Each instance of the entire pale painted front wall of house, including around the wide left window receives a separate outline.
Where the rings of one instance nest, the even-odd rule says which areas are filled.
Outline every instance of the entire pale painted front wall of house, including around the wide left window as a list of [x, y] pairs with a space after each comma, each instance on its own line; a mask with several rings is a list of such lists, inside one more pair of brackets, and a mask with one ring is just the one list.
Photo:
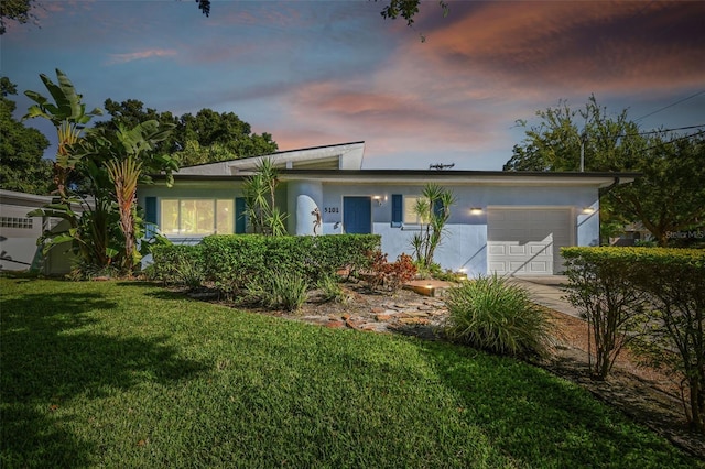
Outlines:
[[[546, 181], [547, 184], [551, 184]], [[488, 272], [487, 262], [487, 210], [492, 207], [512, 208], [566, 208], [571, 210], [574, 226], [572, 242], [576, 246], [599, 244], [599, 203], [596, 186], [516, 186], [516, 185], [458, 185], [442, 184], [453, 190], [456, 204], [451, 207], [447, 233], [437, 248], [434, 261], [443, 269], [463, 271], [469, 276]], [[319, 181], [289, 181], [278, 190], [278, 205], [289, 214], [288, 230], [292, 234], [313, 234], [313, 208], [322, 215], [323, 234], [343, 232], [343, 198], [345, 196], [379, 197], [371, 200], [372, 233], [381, 234], [382, 251], [394, 260], [405, 252], [413, 255], [411, 239], [417, 226], [391, 226], [392, 194], [420, 196], [423, 184], [355, 184], [322, 183]], [[143, 186], [139, 190], [139, 204], [144, 207], [147, 197], [177, 198], [232, 198], [241, 197], [240, 182], [192, 182], [172, 188]], [[585, 207], [595, 211], [584, 214]], [[479, 215], [470, 208], [481, 208]], [[160, 206], [158, 204], [158, 220]], [[202, 238], [172, 238], [177, 243], [196, 243]]]

